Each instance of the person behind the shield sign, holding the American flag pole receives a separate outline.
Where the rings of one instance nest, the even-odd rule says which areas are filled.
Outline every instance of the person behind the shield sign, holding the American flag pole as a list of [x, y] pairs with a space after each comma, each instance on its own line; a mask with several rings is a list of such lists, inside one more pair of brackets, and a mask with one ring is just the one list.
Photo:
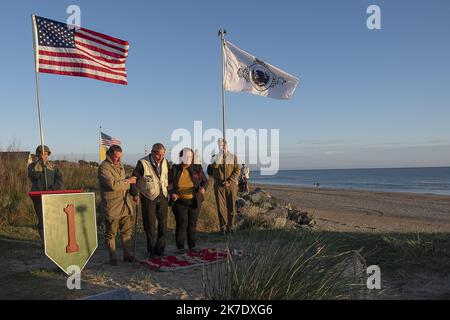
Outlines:
[[[28, 178], [31, 180], [31, 191], [61, 190], [63, 188], [63, 176], [61, 171], [52, 164], [48, 157], [51, 155], [50, 148], [42, 146], [36, 148], [36, 161], [28, 166]], [[45, 181], [47, 180], [47, 186]], [[33, 197], [34, 211], [38, 217], [38, 231], [42, 243], [44, 243], [44, 226], [42, 221], [42, 199]]]

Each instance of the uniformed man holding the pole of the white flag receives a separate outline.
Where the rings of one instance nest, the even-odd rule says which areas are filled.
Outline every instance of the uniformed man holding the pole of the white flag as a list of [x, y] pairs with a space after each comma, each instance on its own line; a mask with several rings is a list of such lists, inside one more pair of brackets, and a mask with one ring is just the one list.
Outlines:
[[[236, 155], [228, 151], [227, 142], [219, 139], [218, 143], [220, 152], [213, 156], [211, 170], [214, 177], [214, 196], [220, 231], [228, 233], [233, 228], [240, 170]], [[225, 220], [225, 217], [227, 220]]]

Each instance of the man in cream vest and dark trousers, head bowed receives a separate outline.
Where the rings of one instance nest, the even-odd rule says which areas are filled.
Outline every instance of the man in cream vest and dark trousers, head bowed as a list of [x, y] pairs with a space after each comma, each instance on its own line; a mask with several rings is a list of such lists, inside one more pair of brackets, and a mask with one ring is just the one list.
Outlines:
[[[139, 199], [140, 194], [149, 258], [155, 254], [164, 255], [166, 246], [170, 168], [169, 162], [164, 158], [165, 152], [164, 145], [154, 144], [151, 153], [140, 159], [133, 171], [133, 176], [138, 180], [131, 193], [135, 201]], [[156, 221], [158, 221], [157, 232]]]

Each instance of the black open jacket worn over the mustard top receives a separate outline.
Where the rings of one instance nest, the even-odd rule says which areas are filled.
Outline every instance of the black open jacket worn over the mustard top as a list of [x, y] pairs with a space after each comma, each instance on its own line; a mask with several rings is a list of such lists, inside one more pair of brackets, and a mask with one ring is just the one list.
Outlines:
[[[200, 188], [208, 188], [208, 179], [203, 172], [203, 168], [199, 164], [193, 164], [187, 169], [189, 176], [194, 183], [194, 193], [197, 207], [200, 207], [204, 197], [200, 192]], [[180, 181], [181, 173], [183, 172], [183, 166], [181, 164], [175, 164], [169, 171], [169, 193], [178, 194], [178, 182]]]

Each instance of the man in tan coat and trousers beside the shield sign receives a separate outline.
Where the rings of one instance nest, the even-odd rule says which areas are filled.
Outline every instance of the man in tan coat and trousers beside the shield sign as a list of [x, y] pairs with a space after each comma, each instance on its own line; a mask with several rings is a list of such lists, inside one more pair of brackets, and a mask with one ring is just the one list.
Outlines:
[[116, 236], [120, 232], [123, 249], [123, 261], [134, 262], [131, 253], [131, 219], [133, 204], [129, 197], [131, 185], [136, 184], [136, 177], [126, 178], [121, 163], [122, 148], [111, 146], [106, 153], [106, 160], [98, 168], [98, 179], [102, 206], [105, 214], [105, 240], [109, 251], [109, 263], [117, 266]]

